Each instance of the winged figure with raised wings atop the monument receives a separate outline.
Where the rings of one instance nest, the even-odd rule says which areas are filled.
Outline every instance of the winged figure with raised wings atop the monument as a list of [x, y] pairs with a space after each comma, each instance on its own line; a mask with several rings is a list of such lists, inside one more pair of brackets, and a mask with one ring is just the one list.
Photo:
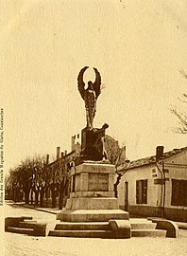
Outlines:
[[95, 73], [95, 81], [89, 81], [88, 87], [85, 89], [83, 75], [88, 67], [89, 66], [85, 66], [80, 70], [77, 77], [77, 82], [79, 93], [82, 99], [85, 101], [87, 128], [89, 130], [93, 130], [93, 119], [96, 112], [96, 100], [101, 93], [101, 76], [97, 69], [93, 67]]

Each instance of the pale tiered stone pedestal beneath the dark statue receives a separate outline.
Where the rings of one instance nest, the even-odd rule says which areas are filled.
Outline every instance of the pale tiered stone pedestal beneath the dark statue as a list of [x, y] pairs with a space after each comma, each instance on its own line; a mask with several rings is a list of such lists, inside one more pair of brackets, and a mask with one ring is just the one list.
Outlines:
[[115, 168], [103, 162], [83, 162], [71, 169], [71, 193], [57, 219], [70, 222], [128, 219], [114, 197]]

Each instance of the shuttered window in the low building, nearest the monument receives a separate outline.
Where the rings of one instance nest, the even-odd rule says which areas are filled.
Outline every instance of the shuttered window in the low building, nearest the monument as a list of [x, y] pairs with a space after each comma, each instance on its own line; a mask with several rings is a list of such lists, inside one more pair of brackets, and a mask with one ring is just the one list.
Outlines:
[[147, 204], [147, 179], [136, 181], [136, 203]]

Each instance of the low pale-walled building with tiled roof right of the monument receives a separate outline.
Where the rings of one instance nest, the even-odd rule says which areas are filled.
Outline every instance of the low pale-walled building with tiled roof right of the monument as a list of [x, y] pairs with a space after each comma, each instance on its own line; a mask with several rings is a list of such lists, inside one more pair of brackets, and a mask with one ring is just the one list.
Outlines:
[[187, 221], [187, 147], [118, 167], [120, 208], [131, 214]]

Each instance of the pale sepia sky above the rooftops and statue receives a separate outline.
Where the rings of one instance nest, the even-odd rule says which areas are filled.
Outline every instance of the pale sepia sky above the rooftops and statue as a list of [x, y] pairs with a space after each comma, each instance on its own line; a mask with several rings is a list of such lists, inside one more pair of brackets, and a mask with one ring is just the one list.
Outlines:
[[127, 158], [187, 146], [171, 106], [187, 91], [187, 3], [125, 0], [0, 1], [0, 107], [5, 171], [27, 156], [71, 150], [86, 125], [77, 90], [102, 78], [94, 127], [126, 145]]

